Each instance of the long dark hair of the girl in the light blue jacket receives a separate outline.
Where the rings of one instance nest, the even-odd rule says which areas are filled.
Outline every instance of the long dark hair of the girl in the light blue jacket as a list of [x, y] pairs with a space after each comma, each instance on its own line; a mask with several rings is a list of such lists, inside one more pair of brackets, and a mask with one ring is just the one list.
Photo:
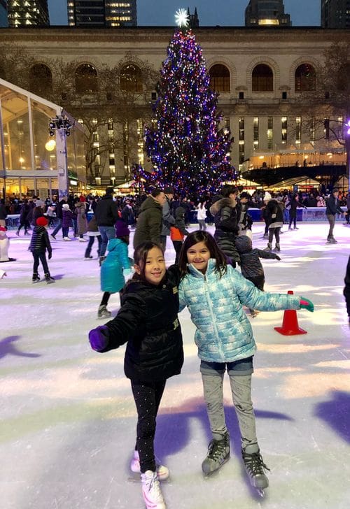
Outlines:
[[208, 234], [207, 231], [193, 231], [190, 235], [188, 235], [183, 243], [181, 248], [181, 252], [179, 255], [179, 269], [181, 273], [181, 278], [184, 278], [188, 273], [188, 260], [187, 260], [187, 252], [193, 245], [204, 242], [210, 252], [210, 257], [216, 259], [215, 271], [220, 275], [220, 277], [225, 274], [227, 271], [227, 261], [225, 254], [218, 247], [215, 239], [211, 234]]

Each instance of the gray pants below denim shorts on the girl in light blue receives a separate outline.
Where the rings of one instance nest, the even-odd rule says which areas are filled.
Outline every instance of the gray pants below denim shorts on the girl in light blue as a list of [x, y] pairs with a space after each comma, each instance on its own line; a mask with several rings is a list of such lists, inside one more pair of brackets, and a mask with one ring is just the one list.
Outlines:
[[[207, 404], [207, 413], [211, 433], [215, 440], [220, 440], [228, 431], [225, 423], [223, 408], [223, 378], [225, 373], [213, 370], [212, 374], [202, 373], [204, 401]], [[241, 445], [246, 447], [258, 443], [255, 430], [255, 415], [251, 401], [251, 375], [229, 375], [232, 400], [235, 405], [239, 431], [241, 432]]]

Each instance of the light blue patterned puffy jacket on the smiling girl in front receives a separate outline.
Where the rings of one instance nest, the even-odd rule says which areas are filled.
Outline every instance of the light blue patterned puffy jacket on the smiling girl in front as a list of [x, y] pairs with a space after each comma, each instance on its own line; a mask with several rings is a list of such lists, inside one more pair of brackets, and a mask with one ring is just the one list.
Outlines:
[[300, 296], [260, 292], [232, 266], [219, 277], [216, 260], [203, 274], [192, 265], [179, 286], [180, 310], [188, 306], [197, 327], [198, 357], [207, 362], [231, 362], [256, 350], [251, 324], [243, 306], [260, 311], [300, 309]]

